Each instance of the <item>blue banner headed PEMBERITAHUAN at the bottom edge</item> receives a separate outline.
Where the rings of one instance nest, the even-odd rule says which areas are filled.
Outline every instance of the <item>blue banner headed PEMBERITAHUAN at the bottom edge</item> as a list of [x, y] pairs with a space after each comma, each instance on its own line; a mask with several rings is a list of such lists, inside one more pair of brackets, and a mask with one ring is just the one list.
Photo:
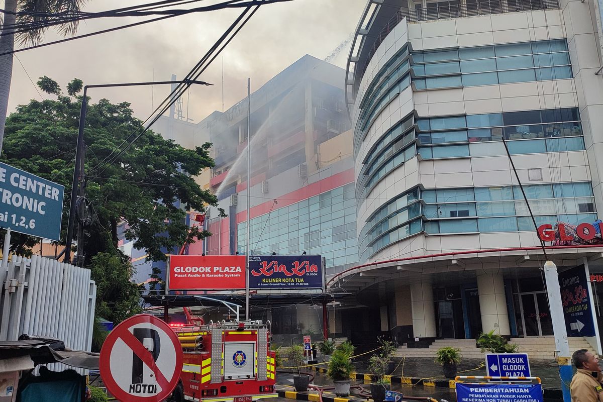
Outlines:
[[467, 384], [456, 383], [457, 402], [542, 402], [540, 384]]

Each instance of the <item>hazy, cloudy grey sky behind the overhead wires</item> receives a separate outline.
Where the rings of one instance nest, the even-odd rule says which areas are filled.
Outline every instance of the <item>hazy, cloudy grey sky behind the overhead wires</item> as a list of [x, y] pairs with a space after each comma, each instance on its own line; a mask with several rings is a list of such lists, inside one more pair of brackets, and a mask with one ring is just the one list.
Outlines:
[[[102, 11], [145, 0], [89, 0], [84, 11]], [[198, 4], [212, 4], [203, 0]], [[183, 113], [199, 122], [214, 110], [222, 110], [222, 68], [224, 105], [247, 96], [247, 77], [256, 90], [274, 75], [305, 54], [324, 59], [349, 41], [367, 0], [293, 0], [267, 4], [257, 11], [235, 39], [199, 78], [213, 87], [191, 86], [183, 96]], [[180, 7], [191, 7], [182, 5]], [[36, 90], [39, 77], [46, 75], [63, 88], [73, 78], [85, 84], [167, 81], [172, 74], [184, 77], [232, 23], [241, 9], [220, 10], [178, 16], [125, 30], [73, 40], [16, 54], [13, 64], [9, 113], [30, 99], [48, 98]], [[148, 17], [96, 19], [81, 23], [78, 34], [86, 34]], [[43, 42], [61, 37], [46, 32]], [[330, 60], [345, 68], [348, 42]], [[21, 46], [17, 46], [21, 47]], [[30, 80], [31, 78], [31, 80]], [[33, 81], [33, 83], [32, 83]], [[342, 83], [343, 86], [343, 83]], [[127, 101], [134, 115], [146, 119], [169, 93], [169, 86], [120, 89], [90, 89], [93, 102], [107, 98]]]

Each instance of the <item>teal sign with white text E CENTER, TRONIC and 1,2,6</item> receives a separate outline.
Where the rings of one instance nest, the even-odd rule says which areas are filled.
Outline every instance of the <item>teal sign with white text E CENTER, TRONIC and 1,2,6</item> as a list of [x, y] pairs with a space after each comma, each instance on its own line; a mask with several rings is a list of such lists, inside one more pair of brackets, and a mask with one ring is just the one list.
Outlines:
[[59, 240], [65, 187], [0, 162], [0, 227]]

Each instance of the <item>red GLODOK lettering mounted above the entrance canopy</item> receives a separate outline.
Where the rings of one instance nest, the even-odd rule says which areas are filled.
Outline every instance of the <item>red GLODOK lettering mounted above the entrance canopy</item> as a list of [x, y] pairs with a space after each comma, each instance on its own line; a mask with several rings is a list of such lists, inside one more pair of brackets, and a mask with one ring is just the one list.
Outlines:
[[554, 246], [603, 244], [601, 231], [603, 222], [598, 220], [592, 224], [582, 223], [577, 226], [565, 222], [557, 222], [538, 227], [538, 237], [544, 242], [552, 242]]

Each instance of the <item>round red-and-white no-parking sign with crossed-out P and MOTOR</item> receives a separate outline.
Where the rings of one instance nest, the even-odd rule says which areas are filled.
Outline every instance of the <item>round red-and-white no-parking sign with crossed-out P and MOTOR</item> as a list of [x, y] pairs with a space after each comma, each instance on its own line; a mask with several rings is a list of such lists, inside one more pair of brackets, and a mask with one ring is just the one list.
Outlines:
[[101, 377], [119, 401], [160, 402], [178, 385], [182, 347], [161, 319], [140, 314], [122, 321], [101, 349]]

